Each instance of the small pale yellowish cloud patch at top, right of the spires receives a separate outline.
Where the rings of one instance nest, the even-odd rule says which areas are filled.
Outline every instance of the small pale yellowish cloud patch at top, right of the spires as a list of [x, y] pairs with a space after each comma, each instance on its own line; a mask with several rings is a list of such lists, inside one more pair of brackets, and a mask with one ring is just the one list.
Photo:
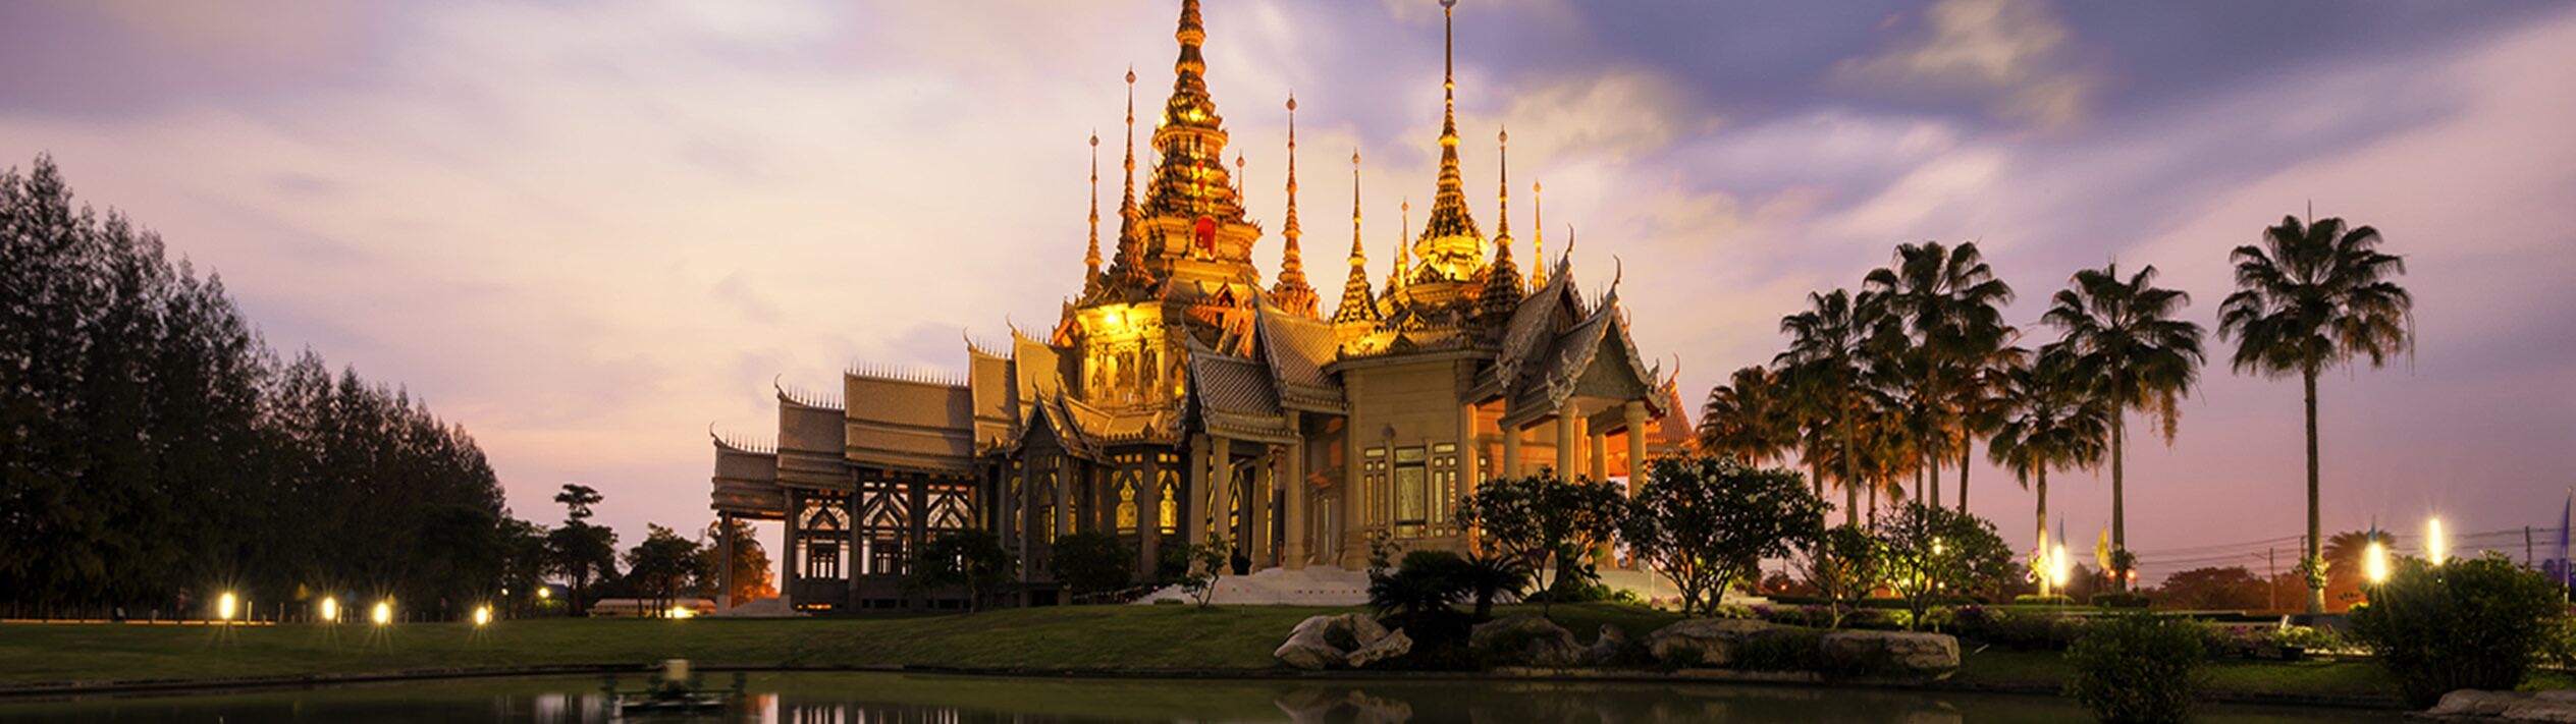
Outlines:
[[2061, 67], [2074, 31], [2040, 3], [1940, 0], [1919, 39], [1834, 70], [1873, 88], [1978, 93], [1996, 116], [2058, 129], [2084, 116], [2097, 80]]

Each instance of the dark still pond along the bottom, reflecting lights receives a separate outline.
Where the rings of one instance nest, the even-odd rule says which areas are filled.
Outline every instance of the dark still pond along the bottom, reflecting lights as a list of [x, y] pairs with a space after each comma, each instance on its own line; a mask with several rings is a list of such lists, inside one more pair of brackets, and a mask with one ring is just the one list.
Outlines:
[[[626, 680], [639, 685], [641, 680]], [[729, 675], [708, 675], [729, 683]], [[1066, 680], [899, 672], [750, 675], [721, 714], [618, 716], [598, 678], [438, 680], [222, 696], [0, 703], [0, 721], [2087, 721], [2048, 696], [1716, 683]], [[2401, 721], [2218, 706], [2197, 721]]]

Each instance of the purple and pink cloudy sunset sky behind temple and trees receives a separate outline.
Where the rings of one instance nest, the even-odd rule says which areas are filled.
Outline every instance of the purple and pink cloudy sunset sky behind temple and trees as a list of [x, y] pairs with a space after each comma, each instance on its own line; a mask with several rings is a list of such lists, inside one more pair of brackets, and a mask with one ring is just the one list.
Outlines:
[[[281, 350], [466, 425], [510, 508], [696, 528], [708, 430], [765, 438], [773, 381], [958, 374], [1048, 327], [1084, 214], [1118, 204], [1128, 67], [1151, 124], [1177, 3], [0, 3], [0, 165], [219, 271]], [[1211, 0], [1208, 85], [1252, 216], [1283, 216], [1298, 98], [1306, 263], [1383, 278], [1437, 175], [1432, 0]], [[2156, 265], [2215, 327], [2228, 250], [2285, 214], [2406, 258], [2414, 356], [2321, 381], [2324, 518], [2427, 515], [2522, 551], [2576, 484], [2576, 8], [2563, 3], [1463, 0], [1471, 211], [1574, 242], [1698, 405], [1808, 291], [1899, 242], [1978, 242], [2027, 343], [2076, 268]], [[1103, 188], [1090, 134], [1100, 134]], [[1149, 131], [1149, 129], [1146, 129]], [[1097, 201], [1092, 201], [1097, 198]], [[1110, 214], [1115, 219], [1115, 214]], [[1278, 237], [1255, 247], [1275, 268]], [[2295, 379], [2213, 340], [2179, 435], [2128, 464], [2143, 575], [2251, 564], [2303, 526]], [[2143, 425], [2138, 425], [2143, 428]], [[2076, 541], [2107, 474], [2058, 474]], [[1947, 479], [1955, 500], [1955, 477]], [[2027, 546], [1994, 466], [1971, 508]], [[2548, 536], [2543, 536], [2548, 544]], [[2282, 557], [2282, 569], [2287, 559]]]

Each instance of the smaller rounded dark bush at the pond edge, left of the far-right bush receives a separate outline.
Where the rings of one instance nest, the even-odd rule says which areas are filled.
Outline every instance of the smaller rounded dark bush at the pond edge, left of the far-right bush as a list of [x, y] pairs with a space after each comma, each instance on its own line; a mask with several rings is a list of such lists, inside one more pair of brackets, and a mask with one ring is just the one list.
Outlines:
[[2205, 634], [2200, 624], [2120, 613], [2087, 626], [2084, 639], [2066, 649], [2074, 678], [2066, 696], [2084, 703], [2094, 719], [2184, 721], [2205, 683], [2200, 665]]

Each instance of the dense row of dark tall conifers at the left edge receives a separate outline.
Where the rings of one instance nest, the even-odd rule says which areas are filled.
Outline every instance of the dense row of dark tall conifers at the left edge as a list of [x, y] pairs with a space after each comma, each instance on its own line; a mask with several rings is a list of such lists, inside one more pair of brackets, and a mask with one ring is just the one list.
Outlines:
[[281, 358], [219, 276], [75, 204], [49, 157], [0, 173], [0, 605], [355, 593], [435, 616], [541, 572], [505, 520], [464, 428]]

